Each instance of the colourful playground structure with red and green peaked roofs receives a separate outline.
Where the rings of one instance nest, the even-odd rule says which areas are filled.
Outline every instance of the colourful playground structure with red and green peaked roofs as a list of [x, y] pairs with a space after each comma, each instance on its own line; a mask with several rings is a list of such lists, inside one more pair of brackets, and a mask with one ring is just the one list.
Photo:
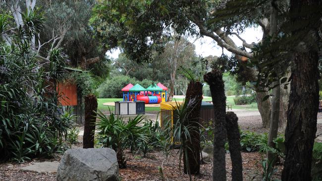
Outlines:
[[123, 89], [123, 101], [144, 101], [146, 104], [159, 104], [166, 101], [167, 88], [161, 83], [152, 84], [147, 89], [140, 84], [126, 85]]

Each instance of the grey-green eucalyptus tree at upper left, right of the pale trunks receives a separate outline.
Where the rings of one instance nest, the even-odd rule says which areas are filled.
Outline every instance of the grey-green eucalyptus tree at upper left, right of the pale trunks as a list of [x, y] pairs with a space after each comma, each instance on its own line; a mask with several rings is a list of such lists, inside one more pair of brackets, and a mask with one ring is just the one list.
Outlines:
[[[38, 0], [46, 16], [45, 31], [40, 34], [43, 42], [62, 46], [74, 67], [91, 70], [94, 75], [107, 77], [110, 60], [105, 56], [107, 48], [93, 36], [88, 25], [96, 0]], [[44, 45], [46, 54], [51, 44]]]

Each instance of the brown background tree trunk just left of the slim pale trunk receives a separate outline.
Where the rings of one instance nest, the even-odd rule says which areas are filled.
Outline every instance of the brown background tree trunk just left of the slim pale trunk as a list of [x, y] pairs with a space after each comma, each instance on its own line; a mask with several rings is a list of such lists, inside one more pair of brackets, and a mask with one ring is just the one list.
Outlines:
[[263, 98], [266, 95], [268, 95], [268, 92], [257, 91], [256, 93], [256, 102], [258, 111], [260, 112], [262, 117], [263, 128], [269, 128], [270, 122], [270, 100], [268, 98], [265, 101], [263, 101]]

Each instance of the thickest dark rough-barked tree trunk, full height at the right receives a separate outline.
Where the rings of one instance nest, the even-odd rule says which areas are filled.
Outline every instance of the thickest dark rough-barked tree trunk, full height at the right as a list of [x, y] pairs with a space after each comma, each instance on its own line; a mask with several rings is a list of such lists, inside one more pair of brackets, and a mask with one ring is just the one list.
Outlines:
[[[282, 181], [311, 181], [312, 150], [319, 110], [319, 26], [321, 0], [291, 0], [290, 22], [295, 40], [291, 91], [285, 130], [286, 157]], [[306, 22], [307, 24], [303, 24]]]

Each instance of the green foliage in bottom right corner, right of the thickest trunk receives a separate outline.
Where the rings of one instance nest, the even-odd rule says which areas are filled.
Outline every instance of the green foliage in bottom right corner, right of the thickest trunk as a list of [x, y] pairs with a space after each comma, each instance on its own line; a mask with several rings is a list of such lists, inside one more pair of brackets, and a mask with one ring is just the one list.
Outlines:
[[312, 181], [321, 181], [322, 179], [322, 143], [315, 142], [312, 153]]

